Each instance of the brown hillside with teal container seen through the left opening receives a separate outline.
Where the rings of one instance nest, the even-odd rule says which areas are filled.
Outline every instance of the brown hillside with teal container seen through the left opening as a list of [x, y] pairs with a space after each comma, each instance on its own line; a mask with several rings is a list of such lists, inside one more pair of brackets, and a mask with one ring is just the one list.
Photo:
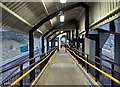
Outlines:
[[27, 35], [7, 28], [0, 29], [0, 34], [2, 35], [0, 40], [2, 61], [14, 59], [16, 56], [28, 52], [29, 38]]

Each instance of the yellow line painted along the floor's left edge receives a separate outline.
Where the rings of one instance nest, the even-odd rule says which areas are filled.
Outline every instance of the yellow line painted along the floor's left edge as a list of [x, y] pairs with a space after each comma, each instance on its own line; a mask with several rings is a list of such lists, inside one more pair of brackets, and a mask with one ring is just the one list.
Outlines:
[[47, 66], [49, 65], [49, 62], [51, 61], [51, 59], [55, 56], [57, 51], [55, 51], [55, 53], [51, 56], [50, 60], [48, 61], [48, 63], [45, 65], [45, 67], [42, 69], [42, 71], [38, 74], [38, 76], [35, 78], [35, 80], [32, 82], [30, 87], [33, 87], [35, 85], [35, 83], [38, 81], [38, 79], [40, 78], [40, 76], [43, 74], [43, 72], [45, 71], [45, 69], [47, 68]]

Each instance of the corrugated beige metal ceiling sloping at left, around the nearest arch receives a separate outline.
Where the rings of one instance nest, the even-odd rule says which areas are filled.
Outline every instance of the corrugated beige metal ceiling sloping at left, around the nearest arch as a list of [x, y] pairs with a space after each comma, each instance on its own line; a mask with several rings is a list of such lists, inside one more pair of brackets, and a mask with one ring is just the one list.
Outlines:
[[[73, 3], [67, 2], [65, 5], [67, 6], [70, 4]], [[44, 17], [62, 7], [59, 2], [45, 2], [45, 6], [48, 10], [47, 13], [42, 2], [2, 2], [2, 5], [4, 6], [2, 7], [2, 25], [14, 30], [16, 29], [25, 34], [28, 34], [29, 30]], [[79, 7], [66, 12], [65, 21], [77, 19], [82, 9], [82, 7]], [[48, 21], [39, 28], [43, 34], [60, 22], [59, 16], [51, 20], [53, 24], [51, 21]], [[35, 35], [39, 36], [40, 34], [38, 35], [37, 32]]]

